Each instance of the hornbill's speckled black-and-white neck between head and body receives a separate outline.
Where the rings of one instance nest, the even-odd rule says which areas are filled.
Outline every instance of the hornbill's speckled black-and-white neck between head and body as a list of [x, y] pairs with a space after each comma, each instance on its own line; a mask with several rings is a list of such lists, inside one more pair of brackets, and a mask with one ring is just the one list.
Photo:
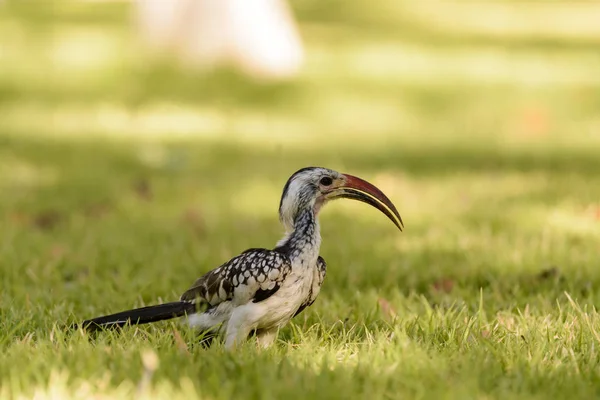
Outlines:
[[319, 257], [321, 232], [314, 210], [303, 210], [296, 215], [291, 230], [277, 243], [275, 250], [286, 253], [292, 263], [312, 264]]

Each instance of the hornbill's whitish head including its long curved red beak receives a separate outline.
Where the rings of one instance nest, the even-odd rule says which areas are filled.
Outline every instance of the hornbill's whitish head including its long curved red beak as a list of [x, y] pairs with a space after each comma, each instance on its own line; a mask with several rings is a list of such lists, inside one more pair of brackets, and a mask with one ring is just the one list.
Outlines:
[[301, 211], [312, 208], [317, 214], [326, 202], [341, 198], [377, 208], [402, 230], [398, 210], [381, 190], [356, 176], [321, 167], [303, 168], [288, 179], [279, 203], [279, 218], [286, 230], [291, 231]]

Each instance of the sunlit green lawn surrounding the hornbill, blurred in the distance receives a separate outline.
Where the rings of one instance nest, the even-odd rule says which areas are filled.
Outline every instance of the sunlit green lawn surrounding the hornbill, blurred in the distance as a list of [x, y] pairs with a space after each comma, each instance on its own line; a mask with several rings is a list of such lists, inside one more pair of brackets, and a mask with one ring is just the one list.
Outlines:
[[[0, 397], [600, 395], [598, 6], [519, 4], [298, 1], [307, 64], [268, 85], [140, 60], [125, 3], [0, 6]], [[306, 165], [406, 230], [329, 205], [325, 285], [272, 348], [61, 328], [272, 246]]]

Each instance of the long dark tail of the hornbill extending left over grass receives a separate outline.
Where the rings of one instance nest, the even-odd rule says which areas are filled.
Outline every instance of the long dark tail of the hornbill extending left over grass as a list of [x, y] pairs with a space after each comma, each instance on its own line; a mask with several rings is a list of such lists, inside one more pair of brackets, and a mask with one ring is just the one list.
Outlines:
[[[136, 308], [134, 310], [88, 319], [87, 321], [83, 321], [79, 326], [89, 331], [120, 328], [124, 325], [140, 325], [182, 317], [186, 314], [192, 314], [195, 311], [196, 306], [193, 303], [174, 301], [172, 303]], [[75, 328], [79, 326], [75, 326]]]

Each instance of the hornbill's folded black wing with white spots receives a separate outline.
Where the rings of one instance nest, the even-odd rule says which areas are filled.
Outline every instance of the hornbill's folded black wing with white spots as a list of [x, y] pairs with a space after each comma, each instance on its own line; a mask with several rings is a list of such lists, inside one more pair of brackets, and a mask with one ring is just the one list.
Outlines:
[[277, 292], [291, 270], [285, 254], [267, 249], [246, 250], [196, 280], [181, 300], [199, 300], [210, 307], [228, 300], [235, 304], [257, 303]]

